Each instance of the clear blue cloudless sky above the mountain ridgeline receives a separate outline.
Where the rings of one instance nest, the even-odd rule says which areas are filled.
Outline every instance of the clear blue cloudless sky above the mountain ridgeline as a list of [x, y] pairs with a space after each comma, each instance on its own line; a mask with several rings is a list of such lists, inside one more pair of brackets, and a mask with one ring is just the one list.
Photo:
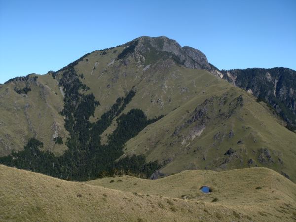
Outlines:
[[296, 0], [0, 0], [0, 83], [167, 36], [219, 69], [296, 70]]

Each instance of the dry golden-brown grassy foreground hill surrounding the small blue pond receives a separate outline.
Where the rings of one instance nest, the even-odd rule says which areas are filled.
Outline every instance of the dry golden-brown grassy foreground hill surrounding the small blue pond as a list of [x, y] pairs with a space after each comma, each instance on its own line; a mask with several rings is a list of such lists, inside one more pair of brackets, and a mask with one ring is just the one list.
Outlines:
[[266, 168], [78, 183], [0, 165], [0, 196], [0, 221], [296, 220], [296, 185]]

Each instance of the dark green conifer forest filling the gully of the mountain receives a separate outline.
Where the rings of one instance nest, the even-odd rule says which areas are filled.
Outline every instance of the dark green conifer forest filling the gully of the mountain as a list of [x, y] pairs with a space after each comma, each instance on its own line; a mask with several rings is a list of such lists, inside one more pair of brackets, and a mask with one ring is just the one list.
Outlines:
[[[66, 142], [68, 149], [62, 156], [57, 157], [52, 152], [41, 151], [43, 143], [32, 138], [24, 150], [13, 151], [11, 155], [1, 157], [0, 163], [77, 181], [111, 175], [114, 172], [129, 172], [148, 177], [158, 169], [159, 165], [156, 162], [147, 163], [143, 155], [132, 155], [119, 161], [116, 159], [123, 154], [124, 144], [129, 139], [162, 116], [148, 119], [139, 109], [121, 114], [135, 95], [131, 90], [125, 97], [119, 97], [99, 120], [91, 123], [89, 118], [94, 115], [100, 103], [95, 100], [92, 93], [79, 93], [79, 90], [86, 92], [89, 88], [79, 80], [72, 64], [64, 68], [64, 71], [59, 85], [65, 91], [65, 105], [61, 114], [65, 117], [65, 128], [70, 133]], [[110, 135], [109, 143], [102, 145], [100, 135], [117, 116], [119, 117], [116, 119], [116, 130]]]

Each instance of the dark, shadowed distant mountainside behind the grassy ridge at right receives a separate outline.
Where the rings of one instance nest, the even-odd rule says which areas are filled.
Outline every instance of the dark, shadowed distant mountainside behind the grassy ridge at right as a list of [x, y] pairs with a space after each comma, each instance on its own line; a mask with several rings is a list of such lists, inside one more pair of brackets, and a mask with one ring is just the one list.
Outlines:
[[222, 78], [270, 104], [296, 130], [296, 71], [288, 68], [222, 70]]

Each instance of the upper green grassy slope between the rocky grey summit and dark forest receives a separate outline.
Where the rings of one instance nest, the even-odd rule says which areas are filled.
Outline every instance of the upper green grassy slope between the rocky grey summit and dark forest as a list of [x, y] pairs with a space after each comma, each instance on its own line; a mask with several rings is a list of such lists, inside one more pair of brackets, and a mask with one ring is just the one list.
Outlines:
[[[116, 53], [113, 53], [114, 50]], [[169, 113], [195, 94], [201, 94], [211, 81], [218, 80], [206, 71], [185, 69], [172, 61], [161, 61], [148, 68], [129, 57], [127, 65], [124, 65], [116, 60], [120, 51], [122, 47], [108, 50], [105, 55], [95, 51], [75, 67], [77, 74], [84, 74], [85, 78], [81, 80], [90, 87], [88, 93], [94, 93], [101, 103], [96, 117], [107, 111], [119, 96], [133, 86], [137, 94], [125, 112], [140, 108], [151, 118]]]

